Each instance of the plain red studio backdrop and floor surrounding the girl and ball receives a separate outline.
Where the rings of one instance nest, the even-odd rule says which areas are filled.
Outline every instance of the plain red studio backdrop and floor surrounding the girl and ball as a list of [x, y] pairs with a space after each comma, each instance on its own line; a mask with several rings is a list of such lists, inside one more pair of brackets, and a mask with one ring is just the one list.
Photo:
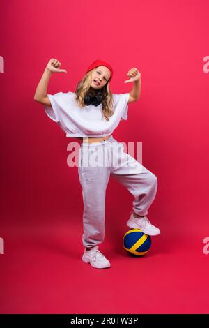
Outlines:
[[[208, 313], [208, 1], [1, 3], [1, 313]], [[158, 178], [148, 213], [160, 228], [143, 258], [123, 250], [132, 195], [107, 188], [101, 251], [112, 267], [82, 262], [82, 188], [70, 141], [33, 96], [49, 59], [68, 71], [48, 93], [75, 91], [95, 59], [114, 68], [111, 91], [141, 97], [113, 136], [142, 142]]]

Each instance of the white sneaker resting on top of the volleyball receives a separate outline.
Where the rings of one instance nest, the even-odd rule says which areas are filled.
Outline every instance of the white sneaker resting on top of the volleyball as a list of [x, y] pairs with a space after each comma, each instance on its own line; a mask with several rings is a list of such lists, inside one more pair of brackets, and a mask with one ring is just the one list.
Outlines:
[[133, 212], [126, 224], [128, 227], [132, 229], [140, 229], [144, 234], [149, 234], [150, 236], [160, 234], [160, 229], [155, 227], [155, 225], [152, 225], [146, 216], [143, 218], [135, 218]]

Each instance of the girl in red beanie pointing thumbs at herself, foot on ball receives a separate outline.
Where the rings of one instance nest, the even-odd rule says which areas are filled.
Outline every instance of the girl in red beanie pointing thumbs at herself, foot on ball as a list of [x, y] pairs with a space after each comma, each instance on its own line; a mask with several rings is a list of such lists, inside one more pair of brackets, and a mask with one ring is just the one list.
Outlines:
[[[104, 203], [110, 174], [134, 197], [127, 226], [150, 235], [160, 234], [146, 216], [157, 193], [157, 177], [127, 154], [123, 144], [112, 136], [121, 119], [127, 120], [128, 104], [139, 99], [141, 74], [137, 68], [131, 68], [127, 73], [129, 80], [125, 81], [134, 82], [130, 93], [111, 94], [113, 69], [98, 59], [88, 66], [75, 92], [47, 94], [52, 74], [67, 73], [60, 66], [57, 59], [49, 60], [34, 100], [45, 105], [47, 115], [67, 137], [82, 140], [78, 167], [84, 202], [82, 260], [102, 269], [111, 266], [98, 247], [104, 241]], [[99, 165], [95, 165], [98, 161]]]

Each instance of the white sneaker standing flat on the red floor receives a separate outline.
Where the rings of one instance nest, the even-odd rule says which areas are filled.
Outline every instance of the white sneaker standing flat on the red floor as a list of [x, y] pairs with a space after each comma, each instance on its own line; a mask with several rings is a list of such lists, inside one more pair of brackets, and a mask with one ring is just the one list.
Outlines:
[[90, 263], [92, 267], [97, 269], [104, 269], [111, 266], [109, 260], [99, 251], [98, 246], [91, 248], [90, 251], [86, 251], [85, 248], [82, 260], [85, 263]]

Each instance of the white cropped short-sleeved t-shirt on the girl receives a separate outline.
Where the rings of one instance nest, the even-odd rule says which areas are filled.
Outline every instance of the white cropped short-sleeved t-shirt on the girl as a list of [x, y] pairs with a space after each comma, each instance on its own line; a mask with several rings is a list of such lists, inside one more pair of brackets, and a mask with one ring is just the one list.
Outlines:
[[103, 117], [102, 104], [79, 107], [75, 92], [47, 94], [51, 106], [45, 106], [47, 115], [66, 133], [66, 137], [106, 137], [111, 135], [121, 119], [127, 120], [127, 102], [130, 93], [112, 94], [114, 114], [109, 121]]

